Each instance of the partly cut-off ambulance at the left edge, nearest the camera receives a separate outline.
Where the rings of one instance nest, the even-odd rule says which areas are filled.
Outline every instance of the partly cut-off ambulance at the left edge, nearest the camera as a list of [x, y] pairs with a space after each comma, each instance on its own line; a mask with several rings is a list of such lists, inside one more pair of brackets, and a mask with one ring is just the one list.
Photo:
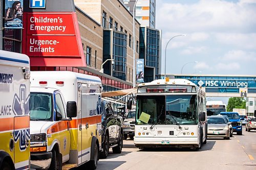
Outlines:
[[29, 57], [0, 50], [0, 169], [29, 169]]

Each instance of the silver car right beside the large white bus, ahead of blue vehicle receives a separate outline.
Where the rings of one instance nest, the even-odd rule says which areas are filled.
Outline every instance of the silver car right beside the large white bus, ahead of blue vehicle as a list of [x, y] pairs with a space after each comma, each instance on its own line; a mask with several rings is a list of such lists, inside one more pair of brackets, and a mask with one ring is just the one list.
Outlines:
[[208, 116], [207, 124], [207, 137], [223, 137], [224, 139], [230, 139], [229, 125], [223, 116]]

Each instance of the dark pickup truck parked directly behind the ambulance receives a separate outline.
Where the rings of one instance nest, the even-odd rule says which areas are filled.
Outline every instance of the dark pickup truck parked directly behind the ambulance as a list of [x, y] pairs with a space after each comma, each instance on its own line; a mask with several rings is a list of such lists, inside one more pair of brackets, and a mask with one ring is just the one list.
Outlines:
[[112, 106], [107, 101], [101, 102], [101, 151], [100, 158], [106, 158], [109, 149], [114, 154], [120, 154], [123, 148], [123, 119], [114, 114]]

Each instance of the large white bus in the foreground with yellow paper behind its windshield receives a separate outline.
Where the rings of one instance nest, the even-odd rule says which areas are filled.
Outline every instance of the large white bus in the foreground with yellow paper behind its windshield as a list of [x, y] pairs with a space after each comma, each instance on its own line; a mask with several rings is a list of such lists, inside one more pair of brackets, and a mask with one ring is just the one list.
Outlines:
[[206, 143], [205, 92], [196, 84], [185, 79], [139, 84], [136, 100], [136, 147], [200, 149]]

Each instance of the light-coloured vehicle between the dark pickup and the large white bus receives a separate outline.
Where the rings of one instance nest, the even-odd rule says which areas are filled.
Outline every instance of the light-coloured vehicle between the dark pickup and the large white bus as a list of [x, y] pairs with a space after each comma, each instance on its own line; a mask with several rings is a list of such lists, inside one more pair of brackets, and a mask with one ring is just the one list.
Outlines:
[[133, 139], [135, 132], [135, 115], [136, 110], [130, 110], [127, 113], [127, 116], [123, 121], [123, 139], [127, 139], [128, 135]]

